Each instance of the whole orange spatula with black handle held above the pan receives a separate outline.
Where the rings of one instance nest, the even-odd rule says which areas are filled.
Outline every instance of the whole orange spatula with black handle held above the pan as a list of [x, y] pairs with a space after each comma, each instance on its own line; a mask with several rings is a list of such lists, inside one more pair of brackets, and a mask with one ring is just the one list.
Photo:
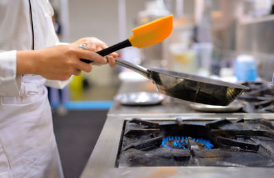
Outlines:
[[[114, 44], [113, 46], [101, 51], [97, 51], [97, 53], [99, 53], [99, 55], [105, 56], [125, 47], [148, 47], [166, 39], [171, 34], [172, 30], [173, 15], [164, 16], [163, 18], [159, 18], [158, 20], [132, 29], [133, 34], [132, 36], [129, 36], [127, 40], [119, 42], [118, 44]], [[92, 62], [91, 60], [81, 60], [86, 63]]]

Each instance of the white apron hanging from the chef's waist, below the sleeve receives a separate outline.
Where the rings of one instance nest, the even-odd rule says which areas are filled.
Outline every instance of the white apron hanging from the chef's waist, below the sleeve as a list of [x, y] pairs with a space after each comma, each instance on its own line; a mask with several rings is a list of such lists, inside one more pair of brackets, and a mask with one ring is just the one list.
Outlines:
[[44, 84], [25, 76], [20, 97], [0, 97], [0, 177], [63, 177]]

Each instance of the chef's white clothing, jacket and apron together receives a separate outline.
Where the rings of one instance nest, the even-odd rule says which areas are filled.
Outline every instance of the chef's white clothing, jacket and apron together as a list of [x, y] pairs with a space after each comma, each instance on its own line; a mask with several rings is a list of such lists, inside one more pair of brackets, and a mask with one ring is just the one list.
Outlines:
[[52, 14], [48, 0], [0, 0], [0, 177], [63, 177], [46, 79], [16, 77], [16, 50], [58, 42]]

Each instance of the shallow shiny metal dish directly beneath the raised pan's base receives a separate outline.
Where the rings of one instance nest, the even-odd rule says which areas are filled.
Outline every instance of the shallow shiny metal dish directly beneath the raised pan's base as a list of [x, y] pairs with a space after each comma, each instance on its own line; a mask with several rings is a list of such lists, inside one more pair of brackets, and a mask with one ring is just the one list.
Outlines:
[[190, 107], [193, 110], [197, 110], [200, 112], [236, 112], [244, 107], [244, 103], [240, 101], [233, 101], [227, 106], [221, 105], [204, 105], [200, 103], [190, 103]]

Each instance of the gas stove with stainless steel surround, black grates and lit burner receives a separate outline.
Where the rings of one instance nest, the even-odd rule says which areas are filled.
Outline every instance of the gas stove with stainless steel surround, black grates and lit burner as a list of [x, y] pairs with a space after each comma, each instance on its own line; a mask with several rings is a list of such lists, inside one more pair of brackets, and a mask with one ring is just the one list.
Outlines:
[[273, 122], [255, 113], [108, 114], [82, 178], [273, 177]]

